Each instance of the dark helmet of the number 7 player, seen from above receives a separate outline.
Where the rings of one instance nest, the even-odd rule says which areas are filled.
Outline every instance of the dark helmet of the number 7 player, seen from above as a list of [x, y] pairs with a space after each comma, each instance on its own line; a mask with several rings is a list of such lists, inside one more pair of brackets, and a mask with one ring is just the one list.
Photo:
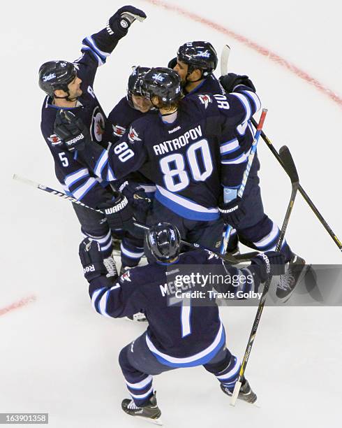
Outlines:
[[170, 223], [158, 223], [146, 234], [147, 247], [158, 262], [170, 262], [179, 256], [181, 236]]

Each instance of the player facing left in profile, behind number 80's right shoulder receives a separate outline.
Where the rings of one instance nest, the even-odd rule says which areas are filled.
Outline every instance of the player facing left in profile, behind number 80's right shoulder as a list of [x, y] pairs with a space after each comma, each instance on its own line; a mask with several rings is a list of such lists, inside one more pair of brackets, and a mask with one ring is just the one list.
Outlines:
[[[218, 81], [213, 72], [216, 69], [218, 57], [216, 50], [209, 42], [194, 41], [184, 43], [177, 52], [177, 57], [172, 59], [169, 66], [173, 66], [181, 78], [184, 94], [223, 94], [232, 92], [237, 85], [247, 85], [255, 91], [255, 87], [248, 76], [238, 76], [228, 73], [221, 76]], [[235, 215], [225, 217], [225, 222], [234, 227], [228, 244], [228, 252], [237, 255], [238, 238], [251, 248], [259, 251], [274, 250], [280, 231], [277, 225], [265, 214], [258, 171], [260, 162], [255, 155], [251, 171], [248, 176], [248, 184], [241, 201], [237, 199], [237, 190], [246, 169], [248, 152], [253, 143], [253, 127], [248, 120], [244, 127], [228, 129], [223, 134], [221, 141], [221, 164], [225, 169], [225, 194], [227, 197], [224, 211], [234, 210]], [[305, 261], [295, 255], [288, 243], [284, 240], [281, 251], [285, 255], [285, 261], [289, 263], [284, 276], [281, 276], [276, 289], [276, 295], [280, 299], [286, 299], [292, 292], [296, 283], [306, 271]]]

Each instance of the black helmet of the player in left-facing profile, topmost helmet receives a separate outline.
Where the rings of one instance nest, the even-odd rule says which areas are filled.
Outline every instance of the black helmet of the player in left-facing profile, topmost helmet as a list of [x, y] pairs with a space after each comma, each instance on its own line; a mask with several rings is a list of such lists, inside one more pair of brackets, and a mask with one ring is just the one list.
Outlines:
[[195, 69], [202, 70], [203, 77], [209, 76], [218, 63], [216, 50], [211, 43], [205, 41], [188, 42], [179, 46], [177, 59], [188, 64], [189, 73]]

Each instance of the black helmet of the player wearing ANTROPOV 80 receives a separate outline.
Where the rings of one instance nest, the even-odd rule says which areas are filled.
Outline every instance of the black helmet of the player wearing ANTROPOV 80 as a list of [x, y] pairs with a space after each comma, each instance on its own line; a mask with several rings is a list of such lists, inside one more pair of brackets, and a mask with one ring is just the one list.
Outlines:
[[172, 104], [181, 97], [181, 79], [172, 69], [156, 67], [142, 77], [141, 90], [149, 100], [159, 97], [163, 104]]

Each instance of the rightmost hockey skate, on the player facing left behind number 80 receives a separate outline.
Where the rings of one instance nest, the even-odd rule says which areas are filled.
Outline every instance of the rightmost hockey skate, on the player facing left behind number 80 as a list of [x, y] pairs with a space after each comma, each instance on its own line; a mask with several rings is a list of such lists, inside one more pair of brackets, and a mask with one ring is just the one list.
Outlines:
[[285, 273], [279, 278], [279, 283], [276, 286], [276, 297], [281, 299], [283, 303], [288, 301], [295, 291], [296, 285], [300, 283], [307, 271], [308, 266], [306, 266], [305, 260], [302, 257], [293, 255]]

